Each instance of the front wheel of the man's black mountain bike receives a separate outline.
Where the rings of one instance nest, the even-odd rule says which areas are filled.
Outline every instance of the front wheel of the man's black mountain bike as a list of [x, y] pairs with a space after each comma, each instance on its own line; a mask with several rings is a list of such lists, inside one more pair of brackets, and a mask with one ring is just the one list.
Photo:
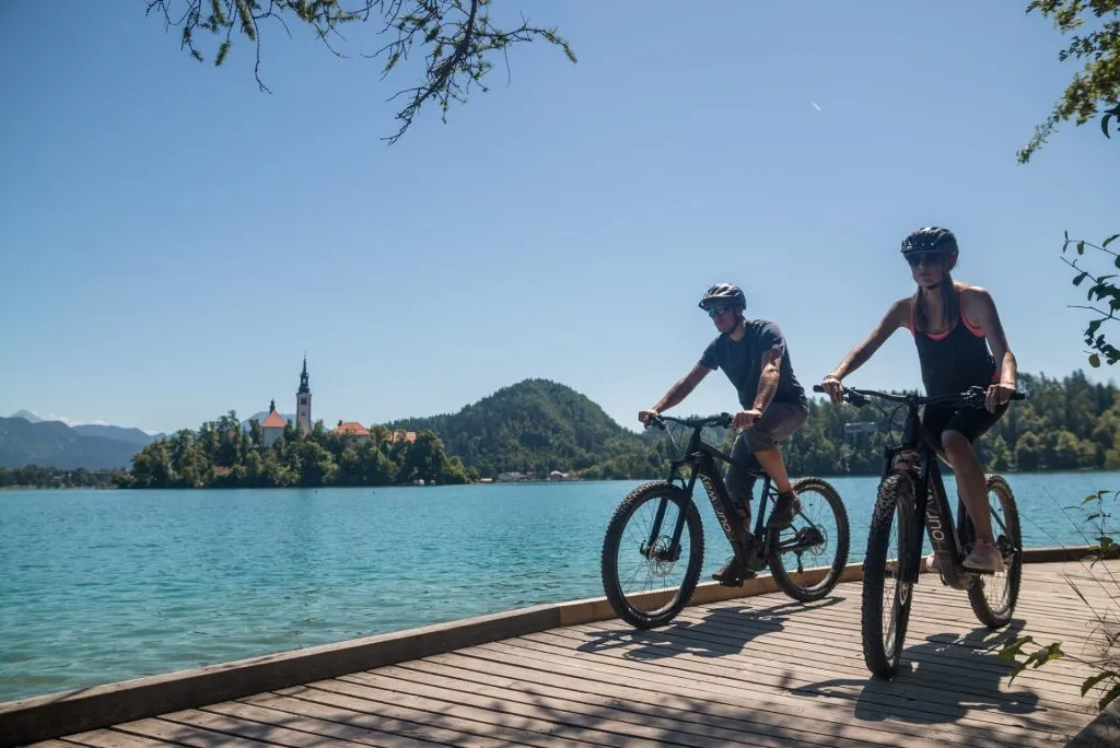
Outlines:
[[[651, 537], [659, 512], [661, 526]], [[672, 548], [682, 514], [681, 540]], [[682, 488], [663, 480], [647, 483], [615, 509], [603, 541], [603, 589], [626, 623], [638, 628], [668, 624], [692, 598], [702, 565], [700, 512]]]

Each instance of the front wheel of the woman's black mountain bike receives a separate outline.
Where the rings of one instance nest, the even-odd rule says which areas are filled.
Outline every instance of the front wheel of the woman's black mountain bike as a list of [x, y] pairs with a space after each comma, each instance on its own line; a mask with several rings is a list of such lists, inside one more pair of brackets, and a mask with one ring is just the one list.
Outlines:
[[864, 559], [860, 628], [864, 661], [878, 677], [890, 680], [902, 660], [909, 623], [913, 585], [904, 582], [905, 561], [918, 551], [914, 536], [914, 483], [894, 473], [879, 484]]

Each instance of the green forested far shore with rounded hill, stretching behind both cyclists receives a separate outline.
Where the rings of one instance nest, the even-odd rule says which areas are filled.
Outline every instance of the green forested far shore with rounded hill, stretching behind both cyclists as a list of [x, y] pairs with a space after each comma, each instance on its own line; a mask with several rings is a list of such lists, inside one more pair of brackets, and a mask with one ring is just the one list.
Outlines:
[[[978, 442], [977, 451], [989, 469], [1120, 469], [1116, 385], [1090, 383], [1077, 371], [1061, 380], [1020, 373], [1019, 386], [1028, 399], [1012, 403]], [[892, 426], [871, 406], [833, 406], [823, 396], [810, 402], [809, 420], [782, 447], [790, 473], [877, 474], [881, 447], [898, 439], [900, 422]], [[673, 410], [676, 415], [687, 412], [688, 403]], [[846, 433], [844, 424], [857, 421], [874, 423], [874, 430], [865, 437]], [[547, 380], [504, 387], [458, 413], [388, 426], [435, 431], [448, 455], [483, 476], [560, 469], [587, 478], [644, 478], [660, 476], [668, 467], [664, 432], [628, 431], [588, 398]]]

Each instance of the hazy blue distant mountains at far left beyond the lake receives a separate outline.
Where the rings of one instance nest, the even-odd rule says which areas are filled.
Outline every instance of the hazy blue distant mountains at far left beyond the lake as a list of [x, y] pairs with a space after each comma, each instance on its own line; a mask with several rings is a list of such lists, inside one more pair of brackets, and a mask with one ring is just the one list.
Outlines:
[[0, 418], [0, 467], [128, 468], [142, 445], [85, 436], [60, 421]]

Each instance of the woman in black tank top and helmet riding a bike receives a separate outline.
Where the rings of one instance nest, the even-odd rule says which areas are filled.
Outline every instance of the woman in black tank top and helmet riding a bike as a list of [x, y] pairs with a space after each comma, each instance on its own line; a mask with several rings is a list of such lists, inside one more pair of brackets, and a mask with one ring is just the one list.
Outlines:
[[902, 251], [917, 290], [893, 303], [871, 334], [844, 356], [821, 386], [833, 404], [839, 404], [843, 399], [843, 377], [867, 363], [896, 329], [905, 327], [917, 346], [927, 395], [956, 394], [977, 385], [987, 387], [983, 410], [963, 409], [958, 414], [951, 406], [931, 405], [922, 415], [922, 424], [940, 439], [943, 456], [956, 477], [958, 494], [976, 529], [976, 544], [963, 565], [1004, 571], [1004, 559], [993, 545], [983, 468], [972, 445], [1007, 411], [1015, 392], [1015, 355], [991, 294], [979, 286], [954, 282], [950, 275], [958, 255], [953, 232], [920, 228], [903, 241]]

